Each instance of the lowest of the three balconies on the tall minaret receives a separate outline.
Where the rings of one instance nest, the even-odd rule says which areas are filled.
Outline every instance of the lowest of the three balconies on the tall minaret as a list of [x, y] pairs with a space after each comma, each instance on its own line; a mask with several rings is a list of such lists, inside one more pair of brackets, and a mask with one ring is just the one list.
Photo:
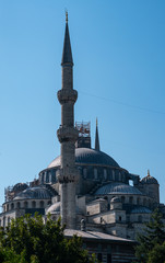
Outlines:
[[79, 170], [76, 168], [61, 168], [56, 171], [56, 178], [59, 183], [73, 183], [79, 181]]

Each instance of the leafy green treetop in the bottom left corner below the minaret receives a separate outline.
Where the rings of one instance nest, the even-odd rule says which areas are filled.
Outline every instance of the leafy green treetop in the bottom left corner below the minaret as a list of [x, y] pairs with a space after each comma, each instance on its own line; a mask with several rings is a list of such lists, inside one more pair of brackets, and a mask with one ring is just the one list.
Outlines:
[[82, 240], [63, 236], [60, 220], [46, 224], [39, 215], [12, 220], [0, 230], [0, 262], [2, 263], [92, 263]]

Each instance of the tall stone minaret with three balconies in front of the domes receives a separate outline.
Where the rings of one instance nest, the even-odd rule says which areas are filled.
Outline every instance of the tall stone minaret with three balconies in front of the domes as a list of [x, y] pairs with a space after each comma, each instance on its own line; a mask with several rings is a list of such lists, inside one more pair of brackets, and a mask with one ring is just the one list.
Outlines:
[[78, 92], [73, 90], [73, 59], [67, 12], [61, 67], [62, 88], [57, 93], [61, 104], [61, 125], [57, 130], [61, 144], [61, 167], [57, 171], [57, 179], [60, 184], [62, 225], [66, 224], [67, 228], [75, 229], [75, 184], [79, 178], [75, 168], [75, 141], [79, 133], [74, 128], [74, 103], [78, 99]]

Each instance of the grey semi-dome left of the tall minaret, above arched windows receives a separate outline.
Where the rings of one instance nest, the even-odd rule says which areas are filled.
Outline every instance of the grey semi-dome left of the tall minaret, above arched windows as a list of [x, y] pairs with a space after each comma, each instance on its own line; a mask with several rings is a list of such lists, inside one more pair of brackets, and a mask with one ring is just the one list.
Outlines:
[[19, 193], [14, 199], [50, 199], [51, 193], [44, 186], [30, 187]]

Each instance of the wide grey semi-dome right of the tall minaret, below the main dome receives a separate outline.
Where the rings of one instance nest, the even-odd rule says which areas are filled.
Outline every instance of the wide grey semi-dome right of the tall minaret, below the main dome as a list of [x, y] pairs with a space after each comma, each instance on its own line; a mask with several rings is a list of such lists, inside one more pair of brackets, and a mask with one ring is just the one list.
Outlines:
[[101, 186], [94, 193], [94, 195], [107, 195], [107, 194], [142, 195], [142, 193], [137, 187], [125, 183], [109, 183]]

